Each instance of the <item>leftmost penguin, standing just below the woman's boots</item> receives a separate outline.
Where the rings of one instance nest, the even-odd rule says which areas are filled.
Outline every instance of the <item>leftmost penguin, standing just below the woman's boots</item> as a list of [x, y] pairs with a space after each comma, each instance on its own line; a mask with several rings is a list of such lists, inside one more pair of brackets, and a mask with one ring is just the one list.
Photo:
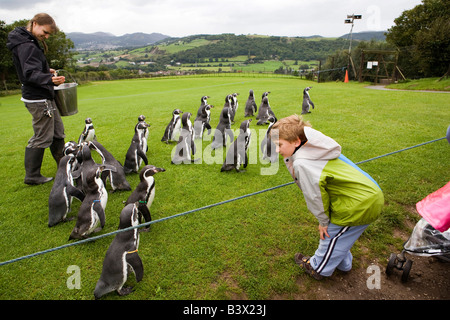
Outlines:
[[80, 201], [84, 200], [84, 193], [74, 185], [72, 171], [75, 164], [76, 158], [73, 153], [63, 156], [59, 161], [55, 182], [48, 198], [49, 227], [68, 221], [66, 216], [70, 212], [73, 197]]

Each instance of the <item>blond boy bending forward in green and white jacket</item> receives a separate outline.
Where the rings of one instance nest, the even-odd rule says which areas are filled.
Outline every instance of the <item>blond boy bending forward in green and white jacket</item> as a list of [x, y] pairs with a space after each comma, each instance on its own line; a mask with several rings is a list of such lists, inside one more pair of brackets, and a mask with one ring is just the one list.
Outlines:
[[319, 220], [315, 254], [297, 253], [295, 262], [317, 280], [331, 276], [335, 269], [350, 271], [351, 247], [384, 205], [380, 187], [341, 154], [336, 141], [312, 129], [301, 116], [279, 120], [271, 136], [308, 210]]

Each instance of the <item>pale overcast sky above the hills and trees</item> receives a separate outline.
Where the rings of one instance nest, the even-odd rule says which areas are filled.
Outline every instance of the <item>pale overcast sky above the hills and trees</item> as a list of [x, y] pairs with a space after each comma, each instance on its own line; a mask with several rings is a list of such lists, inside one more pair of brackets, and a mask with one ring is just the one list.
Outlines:
[[116, 36], [158, 32], [337, 37], [350, 32], [348, 14], [361, 14], [353, 32], [385, 31], [421, 0], [0, 0], [0, 20], [11, 24], [50, 14], [65, 33]]

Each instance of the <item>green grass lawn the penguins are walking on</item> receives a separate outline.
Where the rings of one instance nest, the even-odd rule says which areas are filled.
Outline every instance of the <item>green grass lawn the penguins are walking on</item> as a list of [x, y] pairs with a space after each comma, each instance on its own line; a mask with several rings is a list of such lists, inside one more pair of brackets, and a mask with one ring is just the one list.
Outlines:
[[[151, 124], [149, 163], [167, 171], [156, 179], [151, 208], [154, 220], [290, 182], [282, 160], [272, 167], [261, 163], [259, 143], [266, 127], [251, 123], [251, 163], [246, 172], [220, 172], [222, 163], [208, 164], [210, 139], [197, 141], [200, 164], [172, 165], [174, 144], [162, 143], [165, 126], [175, 108], [195, 117], [200, 97], [209, 95], [215, 128], [225, 96], [238, 92], [239, 109], [233, 129], [244, 118], [248, 92], [259, 105], [261, 94], [278, 118], [301, 112], [306, 86], [316, 108], [305, 116], [315, 129], [342, 145], [354, 162], [445, 136], [449, 125], [449, 96], [445, 93], [379, 91], [359, 83], [313, 83], [283, 78], [180, 77], [172, 79], [95, 82], [78, 87], [76, 115], [64, 117], [66, 140], [77, 140], [84, 119], [91, 117], [98, 141], [123, 163], [139, 115]], [[32, 135], [31, 116], [20, 95], [0, 98], [0, 262], [68, 243], [75, 221], [47, 227], [52, 182], [23, 183], [24, 148]], [[262, 133], [260, 133], [259, 130]], [[220, 152], [218, 158], [223, 156]], [[377, 180], [385, 194], [382, 217], [371, 225], [352, 249], [354, 268], [377, 261], [381, 268], [406, 239], [395, 229], [411, 230], [419, 219], [415, 203], [442, 187], [450, 178], [450, 146], [440, 140], [373, 160], [360, 167]], [[266, 171], [264, 171], [266, 170]], [[267, 171], [268, 170], [268, 171]], [[262, 172], [271, 172], [267, 175]], [[56, 166], [47, 150], [42, 173], [54, 176]], [[132, 188], [137, 174], [127, 176]], [[108, 185], [108, 190], [110, 187]], [[131, 192], [109, 193], [106, 225], [99, 234], [117, 230], [123, 201]], [[73, 201], [75, 217], [80, 202]], [[409, 223], [408, 223], [409, 222]], [[98, 234], [97, 234], [98, 235]], [[93, 299], [103, 258], [112, 241], [104, 237], [19, 262], [0, 266], [0, 299]], [[135, 292], [126, 299], [272, 299], [311, 290], [313, 281], [294, 263], [294, 254], [312, 255], [318, 244], [317, 221], [303, 195], [289, 185], [252, 197], [152, 224], [141, 233], [139, 255], [144, 278], [128, 284]], [[68, 289], [69, 266], [78, 266], [81, 288]], [[298, 281], [304, 283], [299, 289]]]

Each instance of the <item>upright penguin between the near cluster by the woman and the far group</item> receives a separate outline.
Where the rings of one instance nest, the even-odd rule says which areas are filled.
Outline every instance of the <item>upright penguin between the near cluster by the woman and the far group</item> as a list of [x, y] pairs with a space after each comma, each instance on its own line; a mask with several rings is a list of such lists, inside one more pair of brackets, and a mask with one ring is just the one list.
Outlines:
[[142, 161], [147, 165], [147, 132], [150, 125], [144, 120], [139, 120], [134, 127], [134, 136], [131, 139], [131, 145], [125, 156], [123, 170], [126, 174], [138, 173]]

